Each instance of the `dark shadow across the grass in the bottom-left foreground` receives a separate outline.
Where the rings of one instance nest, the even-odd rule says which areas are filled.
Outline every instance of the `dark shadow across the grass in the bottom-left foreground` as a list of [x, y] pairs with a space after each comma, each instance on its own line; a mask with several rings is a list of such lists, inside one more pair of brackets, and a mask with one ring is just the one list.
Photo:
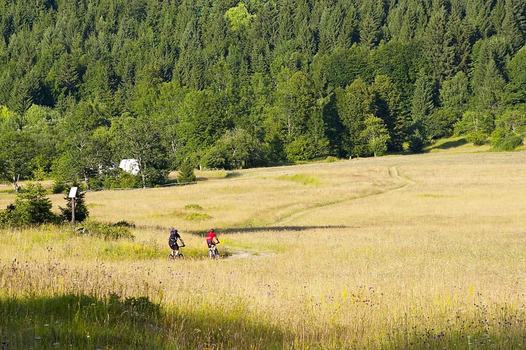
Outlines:
[[0, 298], [0, 348], [282, 348], [285, 333], [246, 316], [165, 310], [147, 297]]

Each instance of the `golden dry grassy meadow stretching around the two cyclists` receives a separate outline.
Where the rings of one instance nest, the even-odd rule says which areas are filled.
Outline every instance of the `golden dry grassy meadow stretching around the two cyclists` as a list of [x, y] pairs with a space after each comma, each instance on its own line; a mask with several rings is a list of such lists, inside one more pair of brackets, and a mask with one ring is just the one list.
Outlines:
[[[134, 240], [1, 231], [2, 347], [526, 346], [526, 152], [442, 147], [87, 193]], [[166, 259], [171, 227], [185, 260]]]

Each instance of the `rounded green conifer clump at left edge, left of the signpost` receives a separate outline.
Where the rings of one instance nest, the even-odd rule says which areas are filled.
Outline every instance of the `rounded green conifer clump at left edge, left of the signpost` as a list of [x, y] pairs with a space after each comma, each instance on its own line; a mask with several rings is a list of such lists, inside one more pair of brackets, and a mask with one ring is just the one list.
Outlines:
[[40, 225], [56, 221], [51, 201], [41, 184], [28, 184], [16, 195], [15, 204], [0, 210], [0, 228], [7, 226]]

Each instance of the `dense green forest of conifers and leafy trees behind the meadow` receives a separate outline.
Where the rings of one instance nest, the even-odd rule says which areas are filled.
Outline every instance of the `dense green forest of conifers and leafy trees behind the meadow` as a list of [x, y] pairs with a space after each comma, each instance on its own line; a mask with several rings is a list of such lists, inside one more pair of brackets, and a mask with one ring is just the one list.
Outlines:
[[4, 0], [0, 34], [14, 183], [155, 185], [181, 163], [419, 152], [452, 134], [513, 149], [525, 131], [523, 0]]

